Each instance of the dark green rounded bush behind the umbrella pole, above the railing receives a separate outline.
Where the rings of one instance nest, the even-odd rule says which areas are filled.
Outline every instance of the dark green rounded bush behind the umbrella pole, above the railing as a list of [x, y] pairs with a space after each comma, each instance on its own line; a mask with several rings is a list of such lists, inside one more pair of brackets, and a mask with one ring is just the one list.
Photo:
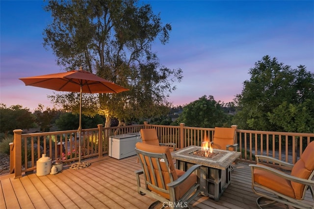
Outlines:
[[[104, 124], [104, 118], [100, 115], [85, 116], [82, 115], [82, 129], [97, 128], [98, 124]], [[76, 130], [79, 126], [79, 115], [72, 113], [64, 113], [60, 115], [55, 121], [56, 126], [60, 131], [64, 130]]]

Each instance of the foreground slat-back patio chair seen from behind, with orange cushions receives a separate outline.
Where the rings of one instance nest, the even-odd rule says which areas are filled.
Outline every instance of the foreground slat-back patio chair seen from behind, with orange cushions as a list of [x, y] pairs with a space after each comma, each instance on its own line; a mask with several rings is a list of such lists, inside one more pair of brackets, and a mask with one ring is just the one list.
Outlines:
[[[171, 209], [185, 208], [200, 192], [199, 178], [194, 173], [199, 164], [193, 165], [186, 172], [175, 169], [169, 147], [137, 142], [137, 157], [142, 165], [135, 171], [137, 192], [155, 199], [149, 208], [158, 204]], [[143, 175], [145, 186], [141, 187], [140, 176]], [[180, 177], [178, 177], [180, 176]]]

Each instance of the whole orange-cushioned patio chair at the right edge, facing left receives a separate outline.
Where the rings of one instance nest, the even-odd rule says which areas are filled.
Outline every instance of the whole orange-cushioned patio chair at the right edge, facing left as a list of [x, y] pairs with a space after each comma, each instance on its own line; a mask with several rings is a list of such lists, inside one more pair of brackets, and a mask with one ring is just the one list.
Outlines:
[[[314, 200], [314, 141], [308, 144], [294, 165], [267, 156], [255, 157], [257, 164], [250, 164], [252, 189], [261, 196], [256, 200], [260, 209], [276, 202], [299, 209], [314, 209], [314, 201], [304, 200], [308, 188]], [[281, 170], [264, 165], [263, 161], [272, 162]]]

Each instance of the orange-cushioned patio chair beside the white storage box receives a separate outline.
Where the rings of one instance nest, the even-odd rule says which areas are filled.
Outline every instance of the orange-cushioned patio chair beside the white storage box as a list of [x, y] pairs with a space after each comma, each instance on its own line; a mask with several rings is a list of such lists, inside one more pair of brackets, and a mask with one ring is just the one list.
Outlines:
[[145, 144], [156, 145], [156, 146], [169, 146], [170, 152], [173, 152], [176, 150], [175, 143], [159, 143], [157, 131], [155, 128], [141, 129], [140, 135], [142, 138], [142, 142]]

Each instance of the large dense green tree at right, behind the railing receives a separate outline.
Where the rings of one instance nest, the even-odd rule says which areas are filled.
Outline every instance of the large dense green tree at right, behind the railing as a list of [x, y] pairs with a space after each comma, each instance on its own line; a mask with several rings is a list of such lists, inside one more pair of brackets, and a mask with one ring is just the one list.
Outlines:
[[314, 73], [278, 63], [268, 55], [255, 63], [235, 97], [234, 123], [241, 129], [314, 131]]

